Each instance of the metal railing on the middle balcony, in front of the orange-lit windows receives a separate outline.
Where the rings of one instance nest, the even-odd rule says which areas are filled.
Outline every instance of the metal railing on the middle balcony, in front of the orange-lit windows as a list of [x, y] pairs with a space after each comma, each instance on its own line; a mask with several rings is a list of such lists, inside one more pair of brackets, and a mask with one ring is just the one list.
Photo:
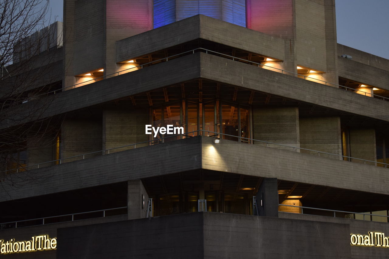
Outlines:
[[[209, 136], [209, 134], [213, 134], [213, 135]], [[192, 136], [190, 136], [190, 135], [192, 135]], [[219, 132], [215, 132], [215, 131], [199, 129], [199, 130], [196, 130], [196, 131], [191, 131], [191, 132], [187, 132], [187, 133], [183, 133], [183, 134], [177, 134], [177, 135], [172, 135], [172, 136], [168, 136], [168, 137], [163, 137], [163, 138], [158, 138], [158, 139], [153, 139], [153, 140], [142, 141], [142, 142], [138, 142], [138, 143], [135, 143], [135, 144], [123, 145], [123, 146], [120, 146], [120, 147], [113, 147], [111, 149], [103, 149], [103, 150], [100, 150], [100, 151], [89, 152], [89, 153], [81, 154], [81, 155], [77, 155], [77, 156], [70, 156], [70, 157], [67, 157], [67, 158], [51, 160], [51, 161], [47, 161], [47, 162], [43, 162], [43, 163], [38, 163], [38, 164], [34, 164], [34, 165], [22, 166], [22, 167], [19, 167], [19, 168], [12, 168], [12, 169], [9, 169], [9, 170], [4, 170], [1, 173], [7, 173], [7, 172], [11, 172], [11, 171], [16, 171], [16, 172], [20, 171], [20, 172], [22, 172], [22, 171], [25, 171], [27, 168], [31, 168], [31, 167], [39, 168], [40, 165], [45, 165], [45, 164], [48, 164], [48, 163], [56, 163], [56, 162], [58, 162], [59, 164], [61, 164], [63, 161], [65, 161], [67, 159], [72, 159], [72, 158], [85, 159], [86, 156], [89, 156], [89, 155], [92, 155], [92, 154], [97, 154], [97, 153], [101, 153], [102, 155], [110, 154], [110, 151], [111, 150], [115, 150], [115, 149], [121, 149], [121, 148], [131, 147], [131, 146], [133, 147], [133, 149], [135, 149], [135, 148], [137, 148], [137, 145], [138, 146], [142, 146], [142, 147], [147, 146], [147, 145], [142, 145], [142, 144], [155, 145], [157, 143], [163, 142], [167, 138], [173, 138], [173, 137], [178, 137], [178, 136], [182, 136], [182, 138], [188, 138], [188, 137], [195, 137], [195, 136], [198, 136], [198, 135], [202, 135], [202, 136], [205, 136], [205, 137], [217, 137], [219, 135], [227, 136], [227, 137], [233, 137], [233, 138], [236, 138], [238, 140], [238, 142], [245, 142], [245, 143], [252, 143], [252, 144], [254, 144], [255, 142], [260, 142], [260, 143], [266, 144], [266, 147], [270, 147], [270, 145], [275, 145], [275, 146], [289, 148], [289, 149], [291, 149], [291, 151], [296, 151], [296, 150], [299, 150], [299, 151], [309, 151], [309, 152], [317, 153], [318, 156], [320, 156], [320, 154], [326, 154], [326, 155], [329, 155], [329, 156], [336, 156], [336, 157], [339, 158], [339, 160], [341, 160], [340, 158], [342, 158], [342, 159], [347, 158], [349, 161], [351, 161], [351, 160], [363, 161], [363, 163], [365, 165], [366, 165], [366, 163], [370, 163], [370, 164], [372, 163], [373, 165], [379, 164], [379, 165], [382, 165], [382, 167], [389, 168], [389, 164], [388, 163], [381, 163], [381, 162], [371, 161], [371, 160], [367, 160], [367, 159], [354, 158], [354, 157], [351, 157], [351, 156], [343, 156], [343, 155], [340, 155], [340, 154], [333, 154], [333, 153], [328, 153], [328, 152], [324, 152], [324, 151], [317, 151], [317, 150], [313, 150], [313, 149], [305, 149], [305, 148], [302, 148], [302, 147], [293, 147], [293, 146], [290, 146], [290, 145], [278, 144], [278, 143], [268, 142], [268, 141], [264, 141], [264, 140], [258, 140], [258, 139], [254, 139], [254, 138], [238, 137], [238, 136], [235, 136], [235, 135], [228, 135], [228, 134], [219, 133]], [[206, 136], [206, 135], [208, 135], [208, 136]], [[223, 141], [223, 138], [221, 139], [221, 141]]]

